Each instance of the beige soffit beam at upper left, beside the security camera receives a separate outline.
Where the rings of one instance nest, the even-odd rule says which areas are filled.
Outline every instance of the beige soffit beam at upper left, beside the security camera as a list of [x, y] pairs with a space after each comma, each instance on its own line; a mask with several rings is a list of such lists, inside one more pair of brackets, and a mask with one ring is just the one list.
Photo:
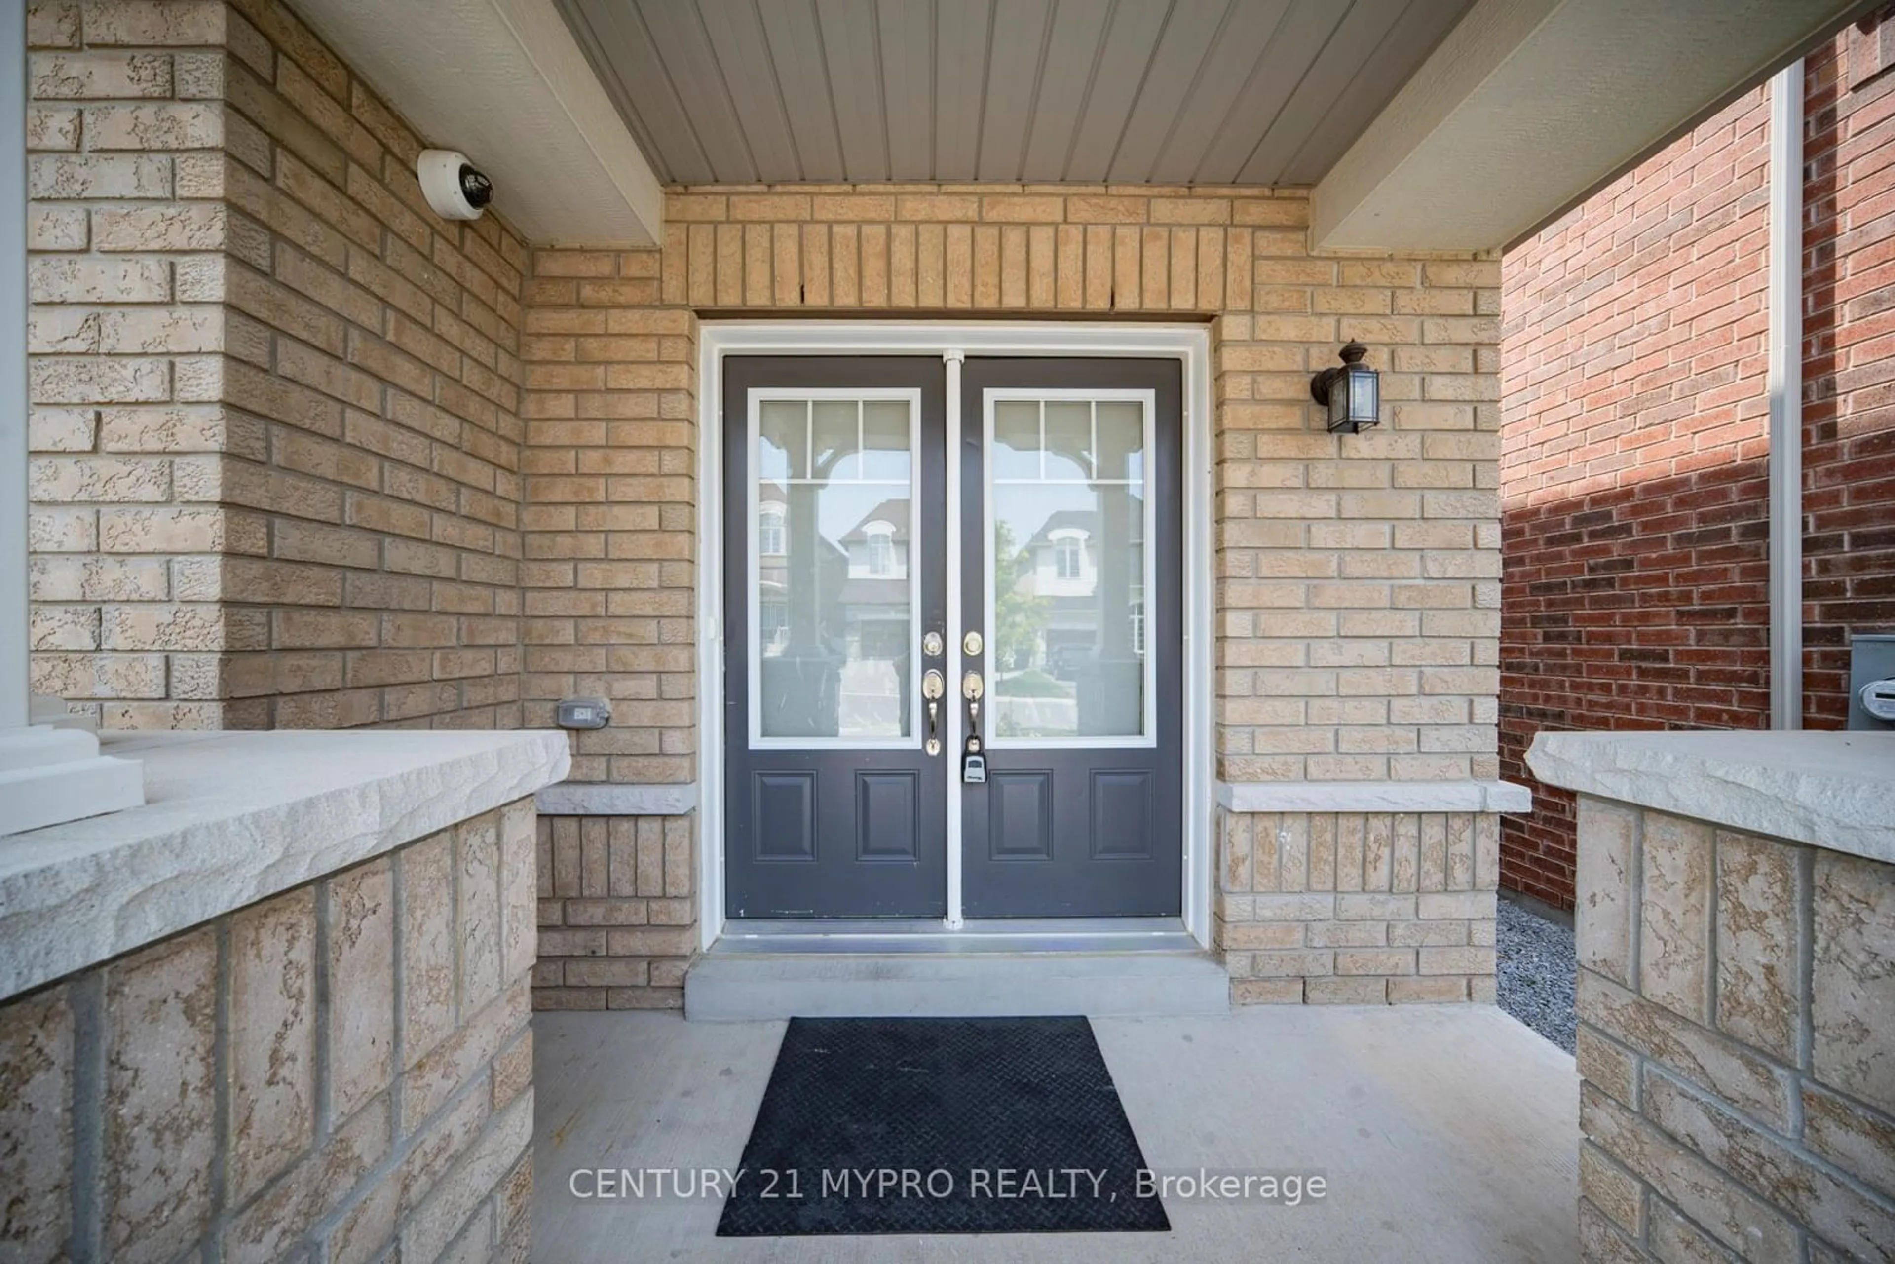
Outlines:
[[663, 239], [663, 188], [553, 0], [294, 4], [426, 144], [493, 176], [529, 243]]

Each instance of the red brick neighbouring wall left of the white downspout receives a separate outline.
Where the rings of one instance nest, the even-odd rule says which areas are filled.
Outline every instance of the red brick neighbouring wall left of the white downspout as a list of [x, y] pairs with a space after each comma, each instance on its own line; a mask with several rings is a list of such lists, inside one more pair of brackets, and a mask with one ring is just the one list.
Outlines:
[[1762, 728], [1768, 97], [1753, 91], [1507, 254], [1501, 883], [1573, 902], [1539, 730]]

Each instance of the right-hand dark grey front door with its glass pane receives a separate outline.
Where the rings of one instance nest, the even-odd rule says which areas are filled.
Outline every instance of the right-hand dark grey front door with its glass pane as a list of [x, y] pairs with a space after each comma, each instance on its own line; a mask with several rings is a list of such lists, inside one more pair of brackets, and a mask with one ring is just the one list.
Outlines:
[[[1186, 828], [1181, 366], [968, 356], [961, 390], [963, 540], [978, 531], [980, 544], [948, 582], [959, 584], [966, 620], [985, 629], [974, 661], [985, 677], [989, 750], [987, 785], [963, 788], [963, 915], [1179, 915]], [[1101, 406], [1128, 402], [1141, 409], [1139, 447], [1120, 436], [1126, 474], [1101, 481], [1110, 451]], [[1002, 409], [1012, 438], [1004, 447], [997, 443]], [[1002, 487], [1025, 495], [1002, 500]], [[1004, 567], [1002, 548], [1010, 551]], [[1010, 605], [1004, 623], [1001, 603]], [[1133, 642], [1133, 605], [1148, 633], [1143, 646]], [[1014, 711], [1004, 705], [1008, 682], [1023, 686], [1012, 694]], [[1129, 682], [1139, 694], [1135, 726], [1122, 709]], [[993, 821], [1004, 811], [993, 777], [1014, 767], [1046, 769], [1050, 781], [1050, 855], [1031, 866], [997, 864], [991, 853], [1004, 828]]]

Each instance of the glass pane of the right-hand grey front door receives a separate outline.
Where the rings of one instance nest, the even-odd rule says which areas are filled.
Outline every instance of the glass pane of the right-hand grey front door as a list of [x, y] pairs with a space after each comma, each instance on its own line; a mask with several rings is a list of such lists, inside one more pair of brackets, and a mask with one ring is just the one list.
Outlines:
[[1150, 739], [1150, 402], [997, 398], [987, 495], [995, 745]]

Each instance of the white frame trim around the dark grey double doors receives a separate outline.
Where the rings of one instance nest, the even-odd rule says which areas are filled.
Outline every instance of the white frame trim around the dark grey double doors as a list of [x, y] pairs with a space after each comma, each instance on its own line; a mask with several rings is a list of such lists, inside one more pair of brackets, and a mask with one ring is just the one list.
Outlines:
[[[1211, 946], [1211, 326], [1052, 320], [707, 320], [697, 330], [697, 936], [709, 949], [724, 932], [724, 356], [942, 356], [949, 387], [959, 360], [978, 356], [1146, 356], [1179, 360], [1184, 375], [1184, 891], [1182, 921]], [[948, 392], [949, 434], [959, 390]], [[949, 476], [955, 462], [948, 462]], [[949, 493], [953, 487], [949, 487]], [[955, 500], [949, 495], [949, 506]], [[949, 542], [949, 548], [957, 548]], [[949, 584], [949, 616], [959, 603]], [[959, 678], [959, 635], [949, 620], [948, 678]], [[959, 707], [949, 707], [948, 750], [959, 750]], [[959, 929], [959, 811], [949, 794], [949, 917]]]

